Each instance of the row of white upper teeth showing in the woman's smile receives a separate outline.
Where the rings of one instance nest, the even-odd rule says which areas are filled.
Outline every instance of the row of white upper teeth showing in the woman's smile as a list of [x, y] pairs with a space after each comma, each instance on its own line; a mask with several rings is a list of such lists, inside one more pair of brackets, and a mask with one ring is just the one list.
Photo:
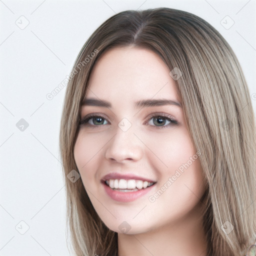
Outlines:
[[[135, 180], [135, 179], [109, 179], [106, 180], [105, 183], [113, 188], [113, 189], [142, 189], [148, 186], [151, 186], [153, 182], [143, 181], [143, 180]], [[125, 190], [126, 191], [126, 190]]]

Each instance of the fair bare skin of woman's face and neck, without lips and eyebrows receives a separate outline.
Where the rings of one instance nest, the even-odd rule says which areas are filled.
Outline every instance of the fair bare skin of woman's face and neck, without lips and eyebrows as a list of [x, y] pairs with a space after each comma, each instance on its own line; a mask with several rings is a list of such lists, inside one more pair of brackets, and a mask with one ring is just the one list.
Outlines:
[[[100, 56], [88, 82], [86, 98], [104, 99], [112, 106], [82, 106], [81, 118], [96, 113], [105, 119], [100, 125], [95, 118], [94, 122], [90, 119], [93, 127], [80, 125], [74, 158], [97, 214], [109, 229], [118, 232], [119, 256], [206, 255], [200, 202], [205, 183], [199, 159], [179, 171], [171, 185], [166, 184], [189, 157], [196, 155], [183, 109], [171, 104], [134, 106], [141, 99], [181, 102], [169, 72], [149, 49], [115, 47]], [[153, 113], [171, 115], [178, 124], [164, 119], [159, 126], [165, 127], [159, 128], [156, 117], [150, 116]], [[131, 124], [126, 131], [118, 127], [124, 117]], [[115, 201], [100, 182], [113, 171], [134, 173], [156, 183], [134, 201]], [[164, 184], [165, 190], [155, 198]], [[123, 221], [128, 223], [128, 231], [118, 227]]]

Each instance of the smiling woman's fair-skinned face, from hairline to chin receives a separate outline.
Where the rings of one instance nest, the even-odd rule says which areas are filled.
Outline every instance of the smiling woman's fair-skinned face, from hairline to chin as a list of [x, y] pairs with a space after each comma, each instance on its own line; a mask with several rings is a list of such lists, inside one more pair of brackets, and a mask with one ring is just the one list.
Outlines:
[[88, 82], [74, 158], [94, 209], [118, 233], [201, 215], [200, 152], [169, 72], [149, 49], [116, 47]]

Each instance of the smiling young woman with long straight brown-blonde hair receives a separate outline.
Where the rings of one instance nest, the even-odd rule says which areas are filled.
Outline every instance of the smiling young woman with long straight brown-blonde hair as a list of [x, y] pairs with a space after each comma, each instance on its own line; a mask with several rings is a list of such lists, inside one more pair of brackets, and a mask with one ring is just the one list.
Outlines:
[[253, 109], [232, 49], [198, 16], [100, 25], [70, 74], [60, 150], [75, 255], [253, 255]]

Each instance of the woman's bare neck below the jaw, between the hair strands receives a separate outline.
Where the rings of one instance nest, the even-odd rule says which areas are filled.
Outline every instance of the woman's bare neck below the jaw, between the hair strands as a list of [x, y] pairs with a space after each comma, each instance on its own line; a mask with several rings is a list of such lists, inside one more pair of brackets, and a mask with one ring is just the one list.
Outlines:
[[189, 217], [147, 232], [118, 233], [118, 256], [205, 256], [207, 243], [198, 212], [202, 212], [199, 206]]

